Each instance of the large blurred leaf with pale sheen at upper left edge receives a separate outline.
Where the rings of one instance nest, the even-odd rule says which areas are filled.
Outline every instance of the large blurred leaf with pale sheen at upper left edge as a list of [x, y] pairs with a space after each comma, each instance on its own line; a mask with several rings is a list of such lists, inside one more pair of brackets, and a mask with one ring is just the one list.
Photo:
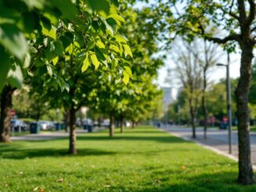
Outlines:
[[11, 24], [0, 26], [0, 43], [20, 61], [24, 60], [28, 51], [27, 41], [19, 29]]

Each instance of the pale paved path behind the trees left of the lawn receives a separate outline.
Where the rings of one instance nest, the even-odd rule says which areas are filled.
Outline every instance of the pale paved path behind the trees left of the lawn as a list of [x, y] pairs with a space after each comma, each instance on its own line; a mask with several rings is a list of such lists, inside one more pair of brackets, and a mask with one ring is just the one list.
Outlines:
[[[104, 128], [97, 128], [93, 129], [93, 132], [98, 132], [101, 131]], [[77, 129], [76, 133], [77, 134], [82, 134], [86, 133], [87, 130], [83, 129]], [[38, 134], [29, 134], [26, 136], [11, 136], [12, 140], [51, 140], [51, 139], [57, 139], [57, 138], [63, 138], [63, 137], [68, 137], [69, 132], [40, 132]]]

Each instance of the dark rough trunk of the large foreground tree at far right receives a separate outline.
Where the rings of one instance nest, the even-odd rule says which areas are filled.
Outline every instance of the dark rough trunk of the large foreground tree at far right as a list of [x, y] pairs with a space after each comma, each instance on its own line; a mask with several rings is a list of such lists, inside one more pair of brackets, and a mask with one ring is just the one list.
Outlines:
[[239, 147], [239, 177], [242, 184], [254, 183], [254, 173], [251, 165], [251, 143], [249, 127], [249, 109], [247, 106], [251, 81], [251, 60], [253, 58], [253, 43], [241, 43], [242, 56], [240, 80], [236, 87], [236, 107], [238, 119]]

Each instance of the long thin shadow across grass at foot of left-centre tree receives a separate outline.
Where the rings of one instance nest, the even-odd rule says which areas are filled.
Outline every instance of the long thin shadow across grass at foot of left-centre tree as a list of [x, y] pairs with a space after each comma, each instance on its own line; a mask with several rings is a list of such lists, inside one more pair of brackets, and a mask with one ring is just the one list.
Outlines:
[[64, 157], [81, 157], [81, 156], [90, 156], [90, 155], [109, 155], [115, 154], [112, 151], [105, 150], [95, 150], [95, 149], [79, 149], [78, 154], [71, 155], [68, 154], [67, 149], [15, 149], [9, 148], [2, 150], [0, 153], [0, 158], [9, 158], [9, 159], [24, 159], [24, 158], [64, 158]]

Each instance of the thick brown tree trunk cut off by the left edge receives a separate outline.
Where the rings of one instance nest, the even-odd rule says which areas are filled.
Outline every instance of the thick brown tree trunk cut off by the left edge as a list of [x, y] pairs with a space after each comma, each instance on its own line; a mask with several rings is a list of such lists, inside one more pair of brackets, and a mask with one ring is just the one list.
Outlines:
[[0, 119], [0, 141], [10, 142], [12, 118], [12, 94], [13, 90], [11, 86], [5, 85], [1, 94], [1, 119]]

